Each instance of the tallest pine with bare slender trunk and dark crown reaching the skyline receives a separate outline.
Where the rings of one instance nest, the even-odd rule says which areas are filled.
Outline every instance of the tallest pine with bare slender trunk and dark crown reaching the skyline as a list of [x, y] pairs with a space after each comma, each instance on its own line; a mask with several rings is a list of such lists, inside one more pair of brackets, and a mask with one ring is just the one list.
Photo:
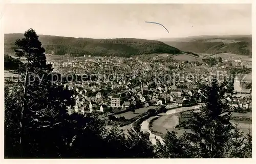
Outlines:
[[[26, 72], [24, 73], [24, 69], [20, 69], [20, 73], [25, 76], [24, 78], [24, 93], [23, 93], [23, 105], [22, 105], [22, 118], [20, 119], [20, 152], [24, 153], [23, 148], [25, 148], [25, 129], [26, 129], [26, 120], [28, 111], [30, 108], [29, 104], [29, 97], [31, 97], [31, 87], [30, 83], [32, 78], [41, 78], [40, 74], [41, 71], [51, 71], [51, 66], [46, 64], [46, 57], [45, 57], [45, 49], [41, 47], [41, 42], [38, 40], [38, 36], [36, 35], [35, 31], [33, 29], [29, 29], [25, 32], [23, 39], [18, 39], [15, 42], [15, 45], [18, 47], [17, 50], [15, 50], [16, 55], [18, 57], [26, 57], [27, 63], [26, 63]], [[34, 83], [34, 85], [38, 85], [38, 79], [37, 83]], [[34, 87], [33, 87], [34, 88]]]

